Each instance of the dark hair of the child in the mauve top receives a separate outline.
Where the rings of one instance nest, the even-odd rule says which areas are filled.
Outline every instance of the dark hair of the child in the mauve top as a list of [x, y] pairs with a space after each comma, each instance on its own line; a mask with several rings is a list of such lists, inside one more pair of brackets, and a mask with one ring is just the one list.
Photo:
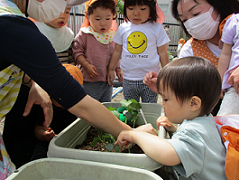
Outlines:
[[110, 9], [112, 14], [114, 15], [114, 19], [116, 19], [117, 13], [116, 13], [115, 6], [116, 6], [116, 3], [114, 0], [98, 0], [89, 6], [86, 13], [89, 16], [89, 15], [93, 14], [94, 9], [96, 9], [98, 7], [102, 7], [104, 9]]

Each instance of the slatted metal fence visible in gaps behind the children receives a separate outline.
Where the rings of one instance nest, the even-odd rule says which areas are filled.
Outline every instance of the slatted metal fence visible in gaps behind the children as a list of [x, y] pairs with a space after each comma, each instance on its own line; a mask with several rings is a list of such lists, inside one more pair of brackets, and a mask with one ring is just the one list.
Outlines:
[[[68, 26], [73, 30], [75, 35], [78, 33], [83, 20], [84, 20], [84, 13], [76, 12], [73, 9], [73, 11], [70, 14], [70, 18], [69, 18], [69, 21], [68, 21]], [[117, 21], [118, 25], [123, 23], [124, 22], [123, 15], [121, 14], [117, 18], [116, 21]], [[176, 52], [177, 47], [178, 47], [179, 39], [184, 38], [186, 40], [186, 35], [183, 32], [180, 24], [177, 24], [177, 23], [163, 23], [163, 25], [166, 25], [166, 24], [169, 25], [168, 34], [169, 34], [169, 38], [170, 38], [170, 42], [169, 42], [169, 45], [167, 46], [167, 49], [170, 52]]]

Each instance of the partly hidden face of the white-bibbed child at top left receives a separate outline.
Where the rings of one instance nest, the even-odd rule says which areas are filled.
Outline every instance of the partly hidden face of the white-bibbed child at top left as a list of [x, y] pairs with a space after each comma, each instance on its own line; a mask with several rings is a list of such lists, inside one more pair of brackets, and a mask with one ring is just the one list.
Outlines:
[[70, 17], [71, 7], [66, 7], [64, 13], [60, 14], [60, 17], [54, 19], [53, 21], [46, 22], [45, 24], [52, 28], [61, 28], [66, 25]]

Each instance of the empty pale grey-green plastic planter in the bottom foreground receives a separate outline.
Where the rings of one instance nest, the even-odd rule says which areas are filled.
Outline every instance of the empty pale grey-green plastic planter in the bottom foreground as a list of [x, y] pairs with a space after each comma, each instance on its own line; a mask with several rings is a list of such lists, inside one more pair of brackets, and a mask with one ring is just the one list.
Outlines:
[[98, 162], [44, 158], [18, 168], [7, 180], [162, 180], [153, 172]]

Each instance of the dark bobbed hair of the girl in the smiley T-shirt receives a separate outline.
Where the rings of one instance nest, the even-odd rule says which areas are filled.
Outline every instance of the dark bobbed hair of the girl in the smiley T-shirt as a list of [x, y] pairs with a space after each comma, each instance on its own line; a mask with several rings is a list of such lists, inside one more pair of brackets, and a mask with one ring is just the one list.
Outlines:
[[156, 3], [157, 2], [155, 2], [155, 0], [124, 0], [124, 20], [126, 22], [130, 21], [129, 18], [127, 17], [127, 14], [126, 14], [126, 9], [129, 6], [147, 5], [147, 6], [149, 6], [149, 9], [150, 9], [150, 14], [149, 14], [150, 18], [148, 19], [148, 21], [156, 22], [157, 18], [158, 18], [158, 15], [157, 15], [157, 12], [156, 12]]

